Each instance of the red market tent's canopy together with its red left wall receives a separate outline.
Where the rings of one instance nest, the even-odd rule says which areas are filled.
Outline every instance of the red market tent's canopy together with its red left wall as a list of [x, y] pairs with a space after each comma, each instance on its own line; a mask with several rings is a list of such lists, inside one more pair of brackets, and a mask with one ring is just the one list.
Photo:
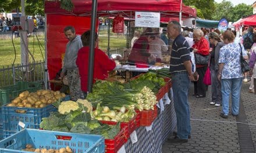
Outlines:
[[[74, 9], [72, 12], [67, 12], [61, 9], [59, 1], [45, 1], [49, 79], [54, 79], [56, 72], [61, 69], [61, 61], [67, 43], [63, 29], [67, 25], [73, 25], [76, 34], [82, 34], [90, 29], [92, 1], [72, 0], [72, 2]], [[179, 17], [180, 10], [183, 18], [195, 17], [195, 11], [189, 6], [182, 3], [182, 9], [180, 9], [179, 0], [98, 0], [97, 16], [110, 17], [122, 13], [123, 17], [134, 18], [135, 11], [147, 11], [161, 12], [161, 17]]]

